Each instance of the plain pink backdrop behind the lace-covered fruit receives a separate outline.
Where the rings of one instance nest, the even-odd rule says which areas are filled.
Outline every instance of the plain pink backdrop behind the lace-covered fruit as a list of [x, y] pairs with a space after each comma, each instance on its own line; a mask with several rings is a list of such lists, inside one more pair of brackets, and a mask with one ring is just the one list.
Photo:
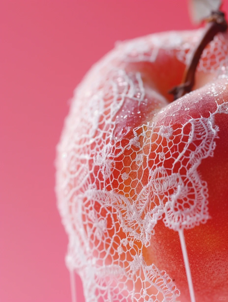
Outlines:
[[1, 302], [71, 301], [54, 160], [75, 86], [115, 41], [190, 28], [187, 0], [1, 1]]

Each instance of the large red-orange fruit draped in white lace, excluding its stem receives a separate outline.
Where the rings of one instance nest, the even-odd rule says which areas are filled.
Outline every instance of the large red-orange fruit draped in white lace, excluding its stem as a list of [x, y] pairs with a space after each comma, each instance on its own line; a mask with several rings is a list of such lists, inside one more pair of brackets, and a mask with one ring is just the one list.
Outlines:
[[[127, 267], [140, 255], [144, 271], [154, 264], [172, 279], [167, 281], [171, 285], [166, 301], [190, 301], [179, 229], [184, 232], [196, 301], [227, 295], [226, 34], [217, 35], [204, 50], [194, 91], [174, 102], [168, 94], [180, 84], [188, 53], [200, 34], [200, 30], [169, 32], [120, 43], [76, 90], [57, 149], [56, 192], [69, 235], [67, 264], [81, 276], [86, 300], [96, 295], [109, 299], [101, 290], [91, 290], [96, 288], [91, 275], [98, 275], [99, 268]], [[198, 136], [190, 140], [193, 128]], [[179, 175], [182, 187], [167, 187], [173, 175]], [[161, 179], [163, 193], [155, 185]], [[141, 211], [145, 195], [150, 203]], [[182, 214], [180, 222], [174, 213], [175, 223], [167, 216], [167, 201], [173, 196], [180, 213], [190, 217], [187, 224]], [[151, 226], [148, 217], [154, 206], [160, 214]], [[143, 281], [123, 281], [121, 274], [119, 278], [119, 288], [124, 284], [132, 293], [135, 286], [141, 293]], [[114, 282], [109, 279], [107, 275], [102, 281], [107, 288]], [[178, 290], [171, 293], [174, 284], [179, 297]], [[156, 293], [153, 286], [147, 288], [146, 296], [141, 293], [137, 301]], [[162, 299], [164, 293], [157, 294], [157, 301]]]

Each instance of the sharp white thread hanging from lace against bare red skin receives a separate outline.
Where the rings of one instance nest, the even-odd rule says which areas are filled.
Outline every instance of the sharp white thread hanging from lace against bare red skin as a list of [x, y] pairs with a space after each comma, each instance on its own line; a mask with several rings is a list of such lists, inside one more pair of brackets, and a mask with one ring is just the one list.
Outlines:
[[191, 275], [191, 270], [190, 270], [189, 261], [188, 261], [188, 254], [187, 254], [185, 239], [184, 239], [184, 232], [183, 232], [183, 230], [179, 230], [178, 233], [179, 233], [179, 237], [180, 237], [180, 245], [181, 245], [181, 249], [182, 249], [185, 271], [186, 271], [186, 275], [187, 275], [190, 299], [191, 299], [191, 302], [196, 302], [193, 284], [192, 284], [192, 275]]

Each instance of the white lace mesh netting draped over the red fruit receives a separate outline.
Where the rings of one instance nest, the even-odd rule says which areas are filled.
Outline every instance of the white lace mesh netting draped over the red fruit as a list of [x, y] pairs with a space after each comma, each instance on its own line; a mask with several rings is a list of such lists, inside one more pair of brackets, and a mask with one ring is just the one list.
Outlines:
[[[56, 192], [69, 236], [66, 263], [80, 275], [86, 302], [178, 300], [172, 279], [147, 265], [142, 249], [158, 220], [181, 232], [209, 218], [207, 183], [197, 167], [213, 156], [219, 130], [214, 116], [228, 107], [224, 102], [209, 117], [173, 124], [167, 106], [153, 122], [130, 127], [127, 120], [143, 118], [148, 99], [140, 72], [122, 66], [155, 62], [160, 50], [186, 64], [201, 34], [171, 32], [118, 43], [75, 92], [58, 145]], [[198, 70], [215, 71], [227, 53], [218, 34]], [[132, 111], [126, 111], [126, 100]], [[173, 116], [189, 110], [181, 101], [175, 106]], [[123, 119], [126, 127], [117, 135]]]

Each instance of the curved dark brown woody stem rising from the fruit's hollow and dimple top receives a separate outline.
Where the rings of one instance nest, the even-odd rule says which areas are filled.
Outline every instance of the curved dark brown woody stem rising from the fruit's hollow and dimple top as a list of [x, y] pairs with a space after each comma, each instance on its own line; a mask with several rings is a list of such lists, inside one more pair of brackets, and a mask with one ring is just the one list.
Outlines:
[[195, 72], [204, 48], [217, 33], [227, 30], [225, 14], [222, 11], [213, 11], [206, 21], [204, 34], [192, 53], [190, 63], [185, 68], [182, 83], [169, 91], [170, 94], [174, 95], [174, 101], [192, 90], [195, 82]]

